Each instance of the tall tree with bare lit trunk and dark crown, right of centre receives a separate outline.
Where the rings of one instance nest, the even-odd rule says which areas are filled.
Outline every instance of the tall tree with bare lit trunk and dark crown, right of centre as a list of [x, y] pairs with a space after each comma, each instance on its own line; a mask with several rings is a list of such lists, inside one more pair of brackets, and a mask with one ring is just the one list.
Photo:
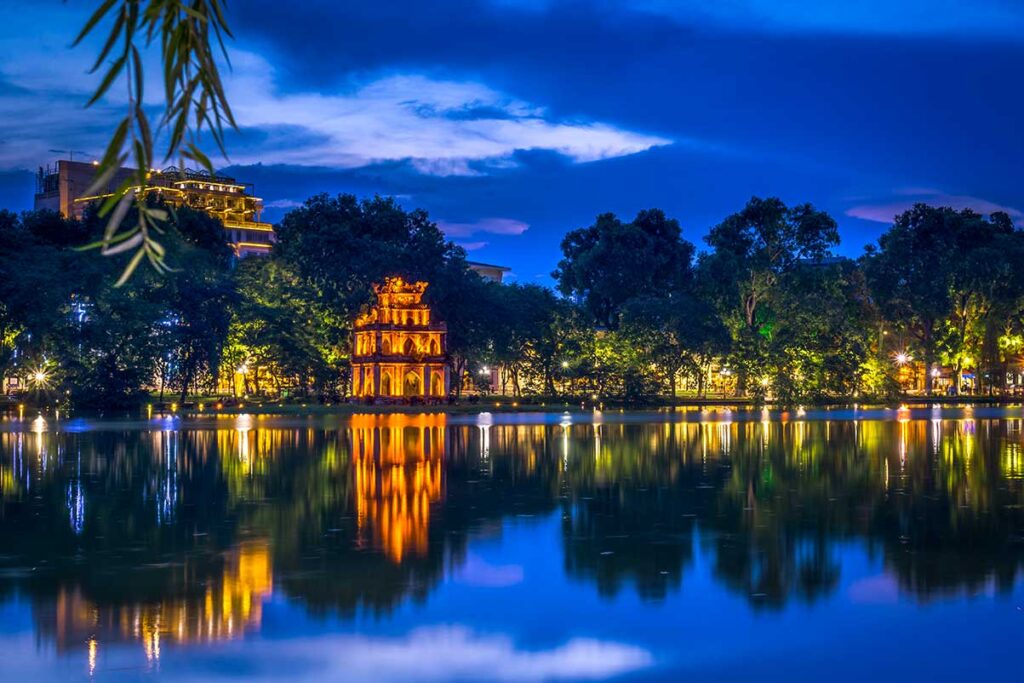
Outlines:
[[701, 258], [703, 281], [733, 338], [737, 393], [765, 361], [770, 301], [779, 279], [801, 260], [821, 261], [839, 244], [836, 221], [810, 204], [786, 207], [777, 198], [753, 198], [706, 238], [714, 252]]

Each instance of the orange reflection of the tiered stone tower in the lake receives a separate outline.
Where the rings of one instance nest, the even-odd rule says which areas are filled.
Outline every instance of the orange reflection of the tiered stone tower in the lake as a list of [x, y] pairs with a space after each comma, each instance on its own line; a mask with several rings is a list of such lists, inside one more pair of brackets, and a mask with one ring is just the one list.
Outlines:
[[443, 415], [352, 416], [360, 539], [394, 562], [427, 552], [430, 504], [440, 500]]

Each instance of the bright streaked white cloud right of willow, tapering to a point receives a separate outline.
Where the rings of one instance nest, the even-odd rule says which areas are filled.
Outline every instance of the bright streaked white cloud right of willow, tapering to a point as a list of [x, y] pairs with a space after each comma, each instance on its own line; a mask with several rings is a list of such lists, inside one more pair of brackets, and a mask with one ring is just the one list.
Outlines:
[[[261, 56], [232, 54], [226, 78], [236, 118], [263, 131], [232, 145], [236, 163], [357, 168], [409, 161], [429, 175], [476, 175], [521, 151], [551, 151], [575, 163], [624, 157], [671, 140], [592, 121], [562, 121], [543, 108], [472, 81], [393, 74], [346, 92], [282, 92]], [[310, 143], [279, 144], [273, 131]], [[271, 150], [269, 153], [267, 150]], [[267, 158], [269, 156], [269, 158]]]

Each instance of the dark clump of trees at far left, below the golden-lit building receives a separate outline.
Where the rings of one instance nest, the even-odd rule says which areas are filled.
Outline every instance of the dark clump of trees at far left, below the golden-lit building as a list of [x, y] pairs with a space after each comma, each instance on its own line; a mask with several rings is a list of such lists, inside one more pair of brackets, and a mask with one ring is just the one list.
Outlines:
[[182, 395], [212, 384], [233, 296], [231, 251], [219, 221], [188, 209], [176, 218], [164, 242], [189, 269], [116, 287], [116, 262], [75, 248], [105, 229], [96, 212], [83, 221], [0, 213], [0, 372], [45, 365], [37, 400], [103, 408], [140, 400], [157, 377]]

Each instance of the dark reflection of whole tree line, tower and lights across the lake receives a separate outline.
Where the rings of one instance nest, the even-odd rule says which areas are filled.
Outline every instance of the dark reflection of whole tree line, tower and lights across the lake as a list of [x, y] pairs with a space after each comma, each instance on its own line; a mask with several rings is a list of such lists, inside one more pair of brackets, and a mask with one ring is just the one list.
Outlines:
[[460, 572], [512, 586], [469, 541], [546, 516], [565, 579], [606, 599], [665, 600], [703, 563], [750, 609], [815, 603], [850, 543], [904, 598], [1013, 589], [1022, 421], [895, 417], [0, 433], [0, 601], [90, 670], [112, 642], [157, 661], [258, 632], [271, 595], [380, 618]]

